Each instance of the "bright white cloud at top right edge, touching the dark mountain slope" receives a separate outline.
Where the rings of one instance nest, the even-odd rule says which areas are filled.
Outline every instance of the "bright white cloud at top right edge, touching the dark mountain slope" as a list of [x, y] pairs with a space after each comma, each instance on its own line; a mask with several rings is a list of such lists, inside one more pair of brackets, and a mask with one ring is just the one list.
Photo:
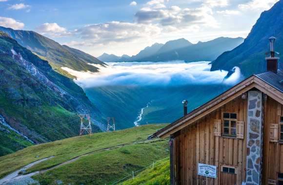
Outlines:
[[245, 4], [239, 4], [238, 7], [242, 10], [268, 10], [279, 0], [250, 0]]

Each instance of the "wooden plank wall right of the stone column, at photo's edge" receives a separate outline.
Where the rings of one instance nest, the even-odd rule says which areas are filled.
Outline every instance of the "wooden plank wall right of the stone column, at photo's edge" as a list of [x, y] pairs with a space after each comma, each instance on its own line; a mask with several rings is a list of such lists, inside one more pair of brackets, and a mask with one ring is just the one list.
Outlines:
[[[283, 115], [283, 105], [267, 97], [264, 103], [263, 117], [263, 184], [268, 185], [268, 180], [277, 181], [277, 173], [283, 173], [283, 144], [270, 142], [270, 124], [279, 124]], [[278, 140], [280, 127], [278, 127]]]

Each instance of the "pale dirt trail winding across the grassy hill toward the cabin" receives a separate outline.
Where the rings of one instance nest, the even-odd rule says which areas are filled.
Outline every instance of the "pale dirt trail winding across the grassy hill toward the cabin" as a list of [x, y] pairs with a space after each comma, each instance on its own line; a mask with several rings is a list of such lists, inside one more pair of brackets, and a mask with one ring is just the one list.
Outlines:
[[116, 149], [116, 148], [121, 148], [121, 147], [129, 146], [129, 145], [145, 144], [145, 143], [155, 143], [155, 142], [161, 142], [163, 140], [166, 140], [166, 139], [158, 139], [158, 140], [148, 140], [148, 139], [146, 139], [146, 140], [141, 140], [141, 141], [134, 141], [134, 142], [124, 143], [124, 144], [120, 144], [120, 145], [116, 145], [116, 146], [112, 146], [112, 147], [108, 147], [108, 148], [101, 148], [101, 149], [97, 149], [97, 150], [93, 150], [93, 151], [81, 154], [81, 155], [79, 155], [77, 157], [74, 157], [74, 158], [72, 158], [72, 159], [70, 159], [68, 161], [65, 161], [65, 162], [63, 162], [61, 164], [58, 164], [56, 166], [52, 166], [52, 167], [50, 167], [48, 169], [44, 169], [44, 170], [40, 170], [40, 171], [28, 173], [28, 174], [23, 174], [23, 175], [19, 174], [20, 171], [25, 171], [29, 167], [32, 167], [32, 166], [34, 166], [36, 164], [39, 164], [42, 161], [46, 161], [48, 159], [51, 159], [51, 158], [55, 157], [55, 156], [50, 156], [50, 157], [47, 157], [47, 158], [35, 161], [35, 162], [33, 162], [33, 163], [29, 164], [29, 165], [26, 165], [26, 166], [20, 168], [19, 170], [14, 171], [14, 172], [10, 173], [9, 175], [3, 177], [2, 179], [0, 179], [0, 185], [10, 185], [10, 184], [12, 185], [12, 184], [15, 184], [15, 181], [17, 183], [21, 183], [21, 185], [28, 185], [30, 183], [38, 184], [38, 182], [34, 181], [31, 178], [33, 175], [44, 173], [46, 171], [58, 168], [60, 166], [63, 166], [63, 165], [66, 165], [66, 164], [70, 164], [70, 163], [72, 163], [74, 161], [77, 161], [78, 159], [80, 159], [83, 156], [90, 155], [90, 154], [97, 153], [97, 152], [101, 152], [101, 151], [107, 151], [107, 150], [112, 150], [112, 149]]

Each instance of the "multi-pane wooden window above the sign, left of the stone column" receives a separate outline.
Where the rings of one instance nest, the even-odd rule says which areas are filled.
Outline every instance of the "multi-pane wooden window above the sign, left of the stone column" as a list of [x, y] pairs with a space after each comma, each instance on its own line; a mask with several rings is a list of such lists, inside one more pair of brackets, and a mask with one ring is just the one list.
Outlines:
[[236, 137], [237, 113], [223, 112], [222, 135]]

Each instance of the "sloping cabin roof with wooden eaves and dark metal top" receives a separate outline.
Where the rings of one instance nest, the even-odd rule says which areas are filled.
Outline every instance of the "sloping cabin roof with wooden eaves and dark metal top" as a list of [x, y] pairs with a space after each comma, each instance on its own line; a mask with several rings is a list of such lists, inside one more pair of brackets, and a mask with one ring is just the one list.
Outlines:
[[219, 96], [213, 98], [209, 102], [194, 109], [187, 115], [181, 117], [170, 125], [158, 130], [150, 137], [165, 138], [171, 134], [183, 129], [184, 127], [194, 123], [207, 114], [215, 111], [229, 101], [242, 95], [244, 92], [249, 91], [252, 88], [257, 88], [261, 92], [267, 94], [271, 98], [275, 99], [279, 103], [283, 104], [283, 71], [278, 70], [278, 73], [264, 72], [261, 74], [253, 74], [249, 78], [243, 80], [237, 85], [233, 86], [229, 90], [223, 92]]

